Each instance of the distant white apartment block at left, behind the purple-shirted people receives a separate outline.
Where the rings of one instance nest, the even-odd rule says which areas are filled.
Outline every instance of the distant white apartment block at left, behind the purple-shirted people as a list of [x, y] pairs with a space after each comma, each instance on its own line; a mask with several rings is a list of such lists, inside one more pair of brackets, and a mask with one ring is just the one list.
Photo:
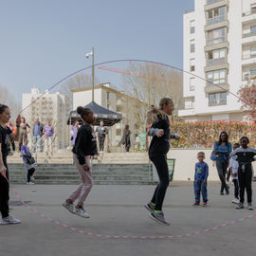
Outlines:
[[[38, 88], [32, 88], [31, 93], [25, 93], [22, 97], [23, 108], [41, 96]], [[22, 114], [27, 119], [27, 123], [32, 126], [35, 118], [46, 123], [47, 119], [51, 120], [55, 130], [55, 139], [53, 147], [55, 150], [64, 149], [69, 144], [69, 127], [66, 125], [71, 106], [65, 101], [65, 96], [56, 92], [50, 94], [46, 92], [43, 97], [35, 101]], [[32, 141], [32, 131], [28, 134], [29, 141]]]

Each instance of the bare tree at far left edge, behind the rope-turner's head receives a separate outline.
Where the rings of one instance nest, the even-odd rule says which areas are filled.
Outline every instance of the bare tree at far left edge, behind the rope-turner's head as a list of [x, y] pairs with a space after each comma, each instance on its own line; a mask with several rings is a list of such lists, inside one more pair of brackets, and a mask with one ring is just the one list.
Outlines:
[[9, 106], [11, 119], [14, 121], [21, 111], [21, 104], [18, 101], [15, 101], [15, 97], [2, 85], [0, 85], [0, 103]]

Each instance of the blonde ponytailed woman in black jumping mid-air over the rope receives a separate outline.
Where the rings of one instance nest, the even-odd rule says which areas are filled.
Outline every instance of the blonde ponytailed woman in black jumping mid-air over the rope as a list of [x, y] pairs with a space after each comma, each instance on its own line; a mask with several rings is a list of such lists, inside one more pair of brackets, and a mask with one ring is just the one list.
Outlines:
[[174, 102], [172, 99], [163, 98], [159, 102], [159, 108], [153, 106], [148, 112], [148, 123], [152, 124], [148, 135], [153, 139], [149, 148], [149, 157], [154, 163], [160, 183], [157, 185], [151, 201], [145, 205], [145, 208], [151, 213], [149, 216], [160, 224], [169, 226], [165, 220], [162, 205], [166, 190], [169, 186], [169, 169], [167, 165], [167, 153], [170, 149], [170, 138], [178, 139], [177, 135], [170, 134], [170, 120], [174, 111]]

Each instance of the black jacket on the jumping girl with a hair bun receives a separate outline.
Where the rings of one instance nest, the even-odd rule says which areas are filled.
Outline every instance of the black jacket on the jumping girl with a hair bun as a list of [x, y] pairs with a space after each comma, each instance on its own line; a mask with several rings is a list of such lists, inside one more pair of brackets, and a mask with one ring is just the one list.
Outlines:
[[81, 165], [85, 164], [85, 155], [97, 155], [95, 132], [89, 124], [83, 123], [79, 128], [72, 152], [77, 155]]

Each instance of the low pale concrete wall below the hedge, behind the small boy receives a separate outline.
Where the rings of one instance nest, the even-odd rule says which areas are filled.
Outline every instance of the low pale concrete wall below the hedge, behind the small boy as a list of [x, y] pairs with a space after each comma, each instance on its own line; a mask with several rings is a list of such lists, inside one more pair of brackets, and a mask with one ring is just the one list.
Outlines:
[[[205, 162], [209, 165], [209, 178], [208, 180], [219, 180], [216, 167], [212, 167], [212, 161], [210, 160], [210, 153], [212, 150], [194, 150], [194, 149], [171, 149], [168, 153], [168, 158], [175, 159], [174, 168], [174, 180], [193, 180], [194, 165], [198, 161], [197, 153], [203, 151], [206, 154]], [[256, 163], [253, 163], [254, 170], [256, 170]], [[154, 168], [155, 169], [155, 168]], [[158, 181], [158, 176], [154, 170], [154, 180]]]

